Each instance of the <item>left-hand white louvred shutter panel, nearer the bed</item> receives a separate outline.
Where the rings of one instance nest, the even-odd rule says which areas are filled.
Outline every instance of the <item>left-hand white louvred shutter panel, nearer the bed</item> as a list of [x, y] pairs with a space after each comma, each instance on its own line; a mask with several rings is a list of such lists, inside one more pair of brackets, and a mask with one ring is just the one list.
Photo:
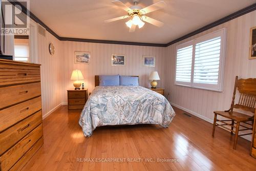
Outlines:
[[193, 45], [177, 50], [176, 58], [176, 82], [191, 81], [191, 65], [193, 56]]

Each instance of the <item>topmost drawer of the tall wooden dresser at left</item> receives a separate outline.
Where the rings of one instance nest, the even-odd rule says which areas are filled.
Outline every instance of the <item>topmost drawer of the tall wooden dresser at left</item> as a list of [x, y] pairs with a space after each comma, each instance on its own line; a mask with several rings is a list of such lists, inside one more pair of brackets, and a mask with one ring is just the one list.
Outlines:
[[40, 81], [39, 66], [0, 64], [0, 86], [35, 81]]

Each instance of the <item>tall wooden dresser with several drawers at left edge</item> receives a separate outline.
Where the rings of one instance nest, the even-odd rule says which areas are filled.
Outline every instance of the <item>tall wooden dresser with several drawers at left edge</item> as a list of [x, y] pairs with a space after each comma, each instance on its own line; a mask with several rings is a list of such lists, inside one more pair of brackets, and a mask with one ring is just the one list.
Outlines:
[[0, 170], [20, 170], [43, 143], [40, 65], [0, 59]]

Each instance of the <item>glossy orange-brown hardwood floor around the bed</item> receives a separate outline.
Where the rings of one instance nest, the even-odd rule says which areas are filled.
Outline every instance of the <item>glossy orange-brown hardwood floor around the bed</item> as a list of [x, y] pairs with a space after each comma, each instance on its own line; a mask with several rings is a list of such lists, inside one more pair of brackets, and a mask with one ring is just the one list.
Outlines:
[[[61, 106], [43, 121], [44, 145], [23, 170], [256, 170], [249, 141], [239, 138], [233, 150], [229, 132], [217, 127], [212, 139], [212, 124], [174, 109], [177, 115], [166, 129], [151, 124], [103, 126], [84, 137], [80, 111]], [[120, 161], [96, 162], [108, 158]], [[164, 158], [179, 162], [157, 161]]]

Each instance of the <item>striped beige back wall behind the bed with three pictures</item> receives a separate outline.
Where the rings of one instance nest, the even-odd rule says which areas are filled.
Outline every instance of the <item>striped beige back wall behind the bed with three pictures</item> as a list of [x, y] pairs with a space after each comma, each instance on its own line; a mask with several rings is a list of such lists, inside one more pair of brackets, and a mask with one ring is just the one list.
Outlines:
[[[160, 79], [159, 87], [164, 87], [165, 78], [165, 57], [166, 48], [144, 47], [130, 45], [96, 44], [90, 42], [63, 41], [63, 102], [67, 102], [67, 90], [73, 89], [73, 81], [70, 80], [72, 70], [81, 70], [86, 88], [89, 92], [94, 89], [95, 75], [138, 75], [140, 86], [149, 87], [148, 75], [151, 71], [158, 71]], [[91, 53], [90, 64], [74, 64], [74, 52], [86, 51]], [[111, 54], [124, 54], [125, 66], [111, 66]], [[156, 67], [143, 67], [142, 55], [154, 55], [156, 57]]]

